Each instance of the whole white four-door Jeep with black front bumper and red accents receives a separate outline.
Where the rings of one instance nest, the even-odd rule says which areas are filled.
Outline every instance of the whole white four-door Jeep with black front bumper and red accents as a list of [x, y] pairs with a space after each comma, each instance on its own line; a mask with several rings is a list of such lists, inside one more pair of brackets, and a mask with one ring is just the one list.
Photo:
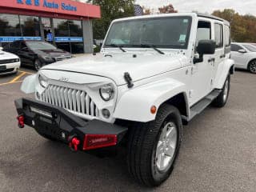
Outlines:
[[147, 186], [174, 168], [182, 125], [230, 90], [230, 24], [204, 14], [158, 14], [112, 22], [100, 54], [45, 66], [15, 101], [28, 125], [71, 150], [126, 144], [130, 174]]

